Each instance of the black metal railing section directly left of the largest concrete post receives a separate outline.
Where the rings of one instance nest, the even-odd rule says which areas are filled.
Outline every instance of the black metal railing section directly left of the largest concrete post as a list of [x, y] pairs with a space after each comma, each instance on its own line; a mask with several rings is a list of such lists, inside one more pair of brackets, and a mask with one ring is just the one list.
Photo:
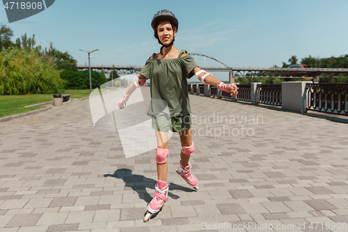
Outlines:
[[267, 105], [282, 105], [281, 84], [258, 84], [258, 102]]

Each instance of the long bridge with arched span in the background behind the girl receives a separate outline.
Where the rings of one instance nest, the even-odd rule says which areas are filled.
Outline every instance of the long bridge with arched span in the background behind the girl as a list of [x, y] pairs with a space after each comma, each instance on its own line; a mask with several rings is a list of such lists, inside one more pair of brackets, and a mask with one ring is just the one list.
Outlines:
[[[315, 78], [318, 79], [320, 75], [323, 74], [333, 74], [337, 76], [340, 73], [348, 74], [348, 68], [239, 68], [239, 67], [230, 67], [223, 61], [214, 58], [214, 56], [209, 56], [207, 54], [201, 54], [197, 52], [190, 52], [189, 55], [195, 57], [197, 63], [197, 57], [204, 57], [204, 64], [200, 65], [200, 68], [207, 70], [208, 72], [230, 72], [230, 79], [233, 77], [274, 77], [274, 78]], [[211, 67], [206, 66], [206, 59], [212, 60], [213, 65]], [[214, 64], [218, 63], [218, 66]], [[77, 65], [79, 70], [86, 70], [88, 66], [86, 65]], [[109, 70], [115, 68], [120, 70], [120, 72], [140, 72], [143, 66], [137, 65], [91, 65], [92, 70], [104, 70], [108, 73]], [[270, 72], [267, 76], [260, 75], [260, 72]]]

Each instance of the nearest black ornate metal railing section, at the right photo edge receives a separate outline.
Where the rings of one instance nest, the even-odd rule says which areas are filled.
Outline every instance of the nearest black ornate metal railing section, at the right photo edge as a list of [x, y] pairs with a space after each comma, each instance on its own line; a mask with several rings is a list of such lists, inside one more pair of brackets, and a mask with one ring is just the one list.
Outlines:
[[348, 84], [307, 84], [308, 110], [348, 116]]

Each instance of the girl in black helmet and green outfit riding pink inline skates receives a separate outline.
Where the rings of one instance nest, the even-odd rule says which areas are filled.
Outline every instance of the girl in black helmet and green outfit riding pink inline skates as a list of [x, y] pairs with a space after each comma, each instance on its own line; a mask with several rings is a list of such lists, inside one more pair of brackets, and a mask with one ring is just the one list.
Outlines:
[[[237, 95], [237, 86], [224, 84], [209, 72], [201, 70], [193, 58], [186, 51], [178, 50], [173, 42], [177, 33], [179, 22], [169, 10], [160, 10], [152, 18], [152, 29], [159, 44], [162, 45], [158, 54], [146, 61], [145, 67], [136, 76], [134, 82], [127, 89], [125, 96], [121, 98], [118, 106], [123, 109], [130, 95], [137, 87], [150, 79], [151, 104], [148, 115], [152, 116], [152, 127], [157, 137], [156, 162], [158, 180], [155, 185], [155, 197], [148, 204], [148, 214], [144, 222], [147, 222], [151, 214], [159, 212], [167, 200], [168, 184], [167, 156], [168, 156], [168, 130], [179, 132], [182, 150], [180, 152], [180, 166], [176, 172], [187, 181], [189, 185], [198, 190], [198, 181], [191, 173], [190, 155], [193, 153], [194, 145], [191, 141], [191, 107], [187, 89], [187, 79], [193, 75], [203, 82], [217, 86], [222, 91]], [[158, 101], [159, 100], [159, 101]], [[166, 102], [169, 113], [163, 113], [161, 103]]]

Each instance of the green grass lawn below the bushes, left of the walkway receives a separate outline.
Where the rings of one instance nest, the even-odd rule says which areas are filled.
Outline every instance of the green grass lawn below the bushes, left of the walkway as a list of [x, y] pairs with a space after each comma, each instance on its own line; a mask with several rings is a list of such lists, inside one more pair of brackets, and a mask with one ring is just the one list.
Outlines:
[[[71, 98], [86, 98], [90, 94], [89, 89], [66, 89], [63, 94], [70, 94]], [[22, 114], [43, 107], [24, 107], [44, 102], [52, 102], [52, 93], [26, 94], [26, 95], [0, 95], [0, 118]]]

